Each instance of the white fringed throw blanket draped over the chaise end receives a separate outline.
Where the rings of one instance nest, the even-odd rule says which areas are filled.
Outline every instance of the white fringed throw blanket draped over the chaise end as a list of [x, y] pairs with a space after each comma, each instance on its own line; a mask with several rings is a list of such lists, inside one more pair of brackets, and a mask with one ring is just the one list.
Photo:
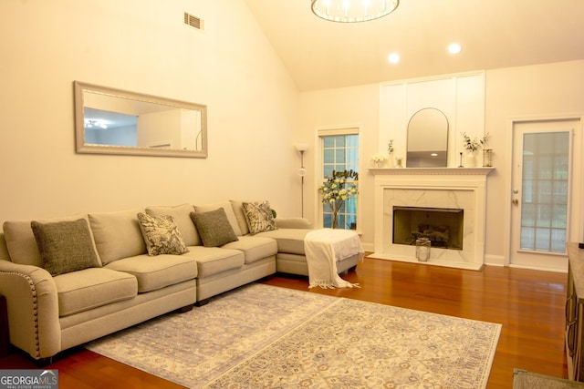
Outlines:
[[308, 288], [359, 288], [339, 277], [337, 261], [351, 255], [364, 257], [359, 235], [353, 230], [322, 229], [308, 232], [304, 239], [304, 251], [308, 263]]

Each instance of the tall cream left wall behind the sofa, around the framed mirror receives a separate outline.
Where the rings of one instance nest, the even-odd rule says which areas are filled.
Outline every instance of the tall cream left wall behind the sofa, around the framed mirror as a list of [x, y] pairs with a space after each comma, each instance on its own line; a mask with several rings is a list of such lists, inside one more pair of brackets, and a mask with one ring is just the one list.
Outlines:
[[[229, 198], [299, 214], [297, 87], [243, 0], [3, 1], [0, 15], [0, 223]], [[76, 154], [74, 80], [206, 104], [208, 159]]]

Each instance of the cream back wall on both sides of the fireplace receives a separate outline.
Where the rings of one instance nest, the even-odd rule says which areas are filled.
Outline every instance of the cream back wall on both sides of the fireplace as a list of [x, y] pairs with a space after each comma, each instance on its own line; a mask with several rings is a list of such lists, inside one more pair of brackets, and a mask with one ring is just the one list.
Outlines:
[[[508, 257], [506, 241], [510, 200], [507, 199], [510, 176], [509, 124], [512, 118], [584, 114], [584, 61], [511, 67], [485, 72], [485, 131], [490, 134], [489, 148], [494, 149], [495, 172], [488, 176], [485, 260], [504, 264]], [[373, 177], [367, 172], [370, 156], [386, 149], [378, 144], [378, 85], [347, 87], [302, 93], [300, 96], [300, 135], [310, 142], [308, 167], [315, 167], [315, 129], [361, 125], [360, 161], [360, 232], [366, 250], [373, 248]], [[405, 131], [405, 128], [403, 129]], [[460, 131], [458, 131], [460, 132]], [[459, 136], [458, 132], [454, 136]], [[581, 173], [580, 173], [581, 174]], [[307, 215], [316, 219], [320, 206], [316, 195], [314, 171], [308, 171]], [[508, 200], [508, 201], [507, 201]], [[578, 217], [578, 215], [576, 215]], [[581, 216], [580, 216], [581, 218]], [[580, 231], [581, 233], [581, 231]]]

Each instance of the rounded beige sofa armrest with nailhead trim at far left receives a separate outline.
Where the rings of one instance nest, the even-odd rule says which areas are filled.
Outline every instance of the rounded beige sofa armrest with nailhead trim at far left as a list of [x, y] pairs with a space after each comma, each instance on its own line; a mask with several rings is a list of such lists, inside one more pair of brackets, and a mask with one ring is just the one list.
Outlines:
[[0, 261], [10, 343], [36, 360], [61, 351], [57, 287], [45, 269]]

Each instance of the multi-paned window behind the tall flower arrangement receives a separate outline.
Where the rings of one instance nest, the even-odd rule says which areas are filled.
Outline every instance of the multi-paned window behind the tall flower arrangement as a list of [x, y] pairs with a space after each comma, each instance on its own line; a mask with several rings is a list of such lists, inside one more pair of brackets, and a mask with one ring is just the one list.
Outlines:
[[[321, 130], [320, 137], [322, 182], [330, 179], [333, 171], [353, 170], [359, 172], [359, 129], [344, 128]], [[348, 179], [353, 181], [354, 179]], [[323, 227], [332, 226], [332, 210], [328, 204], [322, 204]], [[337, 215], [337, 228], [357, 229], [357, 199], [346, 200]]]

